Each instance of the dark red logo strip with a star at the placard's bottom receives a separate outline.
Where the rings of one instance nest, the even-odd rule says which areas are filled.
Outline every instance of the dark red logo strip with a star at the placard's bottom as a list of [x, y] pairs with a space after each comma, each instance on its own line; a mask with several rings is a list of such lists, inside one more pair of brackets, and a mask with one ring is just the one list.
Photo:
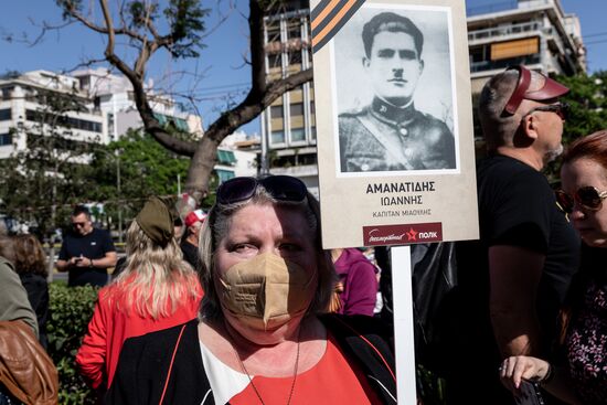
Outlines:
[[443, 224], [440, 222], [363, 226], [362, 232], [365, 246], [407, 245], [443, 241]]

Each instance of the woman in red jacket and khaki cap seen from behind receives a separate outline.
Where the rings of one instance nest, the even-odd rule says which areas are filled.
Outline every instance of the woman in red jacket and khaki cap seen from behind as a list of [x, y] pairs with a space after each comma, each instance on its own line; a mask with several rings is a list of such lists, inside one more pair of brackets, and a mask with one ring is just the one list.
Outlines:
[[125, 269], [99, 290], [76, 365], [93, 388], [111, 384], [123, 342], [196, 317], [202, 289], [173, 237], [163, 201], [150, 198], [127, 231]]

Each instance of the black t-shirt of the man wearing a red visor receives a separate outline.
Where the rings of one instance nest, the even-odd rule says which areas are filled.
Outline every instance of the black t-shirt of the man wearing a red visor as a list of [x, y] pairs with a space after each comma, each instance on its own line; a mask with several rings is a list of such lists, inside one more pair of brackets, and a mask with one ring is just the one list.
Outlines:
[[496, 374], [500, 355], [489, 318], [489, 247], [520, 246], [545, 254], [536, 309], [542, 354], [549, 355], [558, 310], [578, 267], [579, 238], [558, 210], [545, 177], [523, 162], [504, 156], [488, 158], [477, 168], [477, 184], [480, 241], [457, 245], [460, 313], [456, 319], [461, 322], [454, 339], [462, 355], [473, 353], [477, 361], [494, 366], [491, 373]]

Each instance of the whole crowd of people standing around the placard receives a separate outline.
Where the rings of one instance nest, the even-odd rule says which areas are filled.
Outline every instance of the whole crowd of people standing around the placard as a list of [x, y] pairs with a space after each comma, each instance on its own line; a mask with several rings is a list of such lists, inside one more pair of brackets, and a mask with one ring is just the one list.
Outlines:
[[[607, 130], [567, 147], [556, 193], [541, 172], [563, 152], [567, 92], [524, 66], [486, 84], [480, 238], [413, 255], [415, 315], [441, 333], [447, 404], [607, 397]], [[207, 213], [183, 217], [152, 196], [118, 265], [85, 207], [71, 220], [56, 268], [70, 286], [103, 286], [76, 355], [100, 402], [397, 403], [393, 331], [376, 313], [386, 252], [377, 266], [355, 248], [323, 249], [319, 203], [300, 180], [231, 179]], [[0, 238], [0, 320], [24, 321], [42, 347], [46, 271], [34, 236]], [[418, 300], [415, 287], [440, 295]]]

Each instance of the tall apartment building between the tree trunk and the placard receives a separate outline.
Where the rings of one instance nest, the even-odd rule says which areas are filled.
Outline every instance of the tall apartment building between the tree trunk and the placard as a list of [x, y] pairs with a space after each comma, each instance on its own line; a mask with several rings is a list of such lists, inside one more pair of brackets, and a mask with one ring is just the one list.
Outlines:
[[[287, 1], [265, 19], [268, 81], [311, 68], [308, 1]], [[313, 83], [283, 95], [262, 115], [260, 171], [301, 179], [318, 193]]]

